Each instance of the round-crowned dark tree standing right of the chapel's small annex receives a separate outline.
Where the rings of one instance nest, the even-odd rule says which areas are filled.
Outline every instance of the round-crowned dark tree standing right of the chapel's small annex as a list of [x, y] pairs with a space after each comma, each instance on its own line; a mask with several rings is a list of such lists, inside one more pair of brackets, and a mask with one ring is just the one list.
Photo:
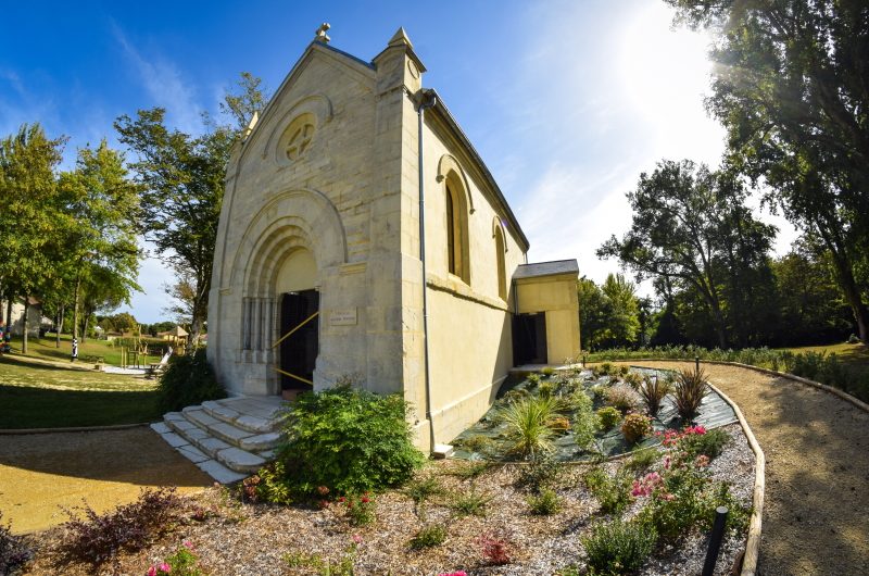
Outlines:
[[[660, 286], [666, 279], [677, 290], [695, 290], [711, 317], [717, 345], [726, 348], [727, 270], [738, 266], [739, 277], [747, 278], [745, 271], [766, 258], [776, 234], [754, 220], [745, 198], [741, 181], [728, 173], [689, 160], [662, 161], [651, 175], [642, 173], [637, 190], [628, 193], [630, 230], [621, 240], [613, 236], [597, 255], [617, 258], [638, 280], [651, 277]], [[734, 230], [736, 220], [741, 225]]]

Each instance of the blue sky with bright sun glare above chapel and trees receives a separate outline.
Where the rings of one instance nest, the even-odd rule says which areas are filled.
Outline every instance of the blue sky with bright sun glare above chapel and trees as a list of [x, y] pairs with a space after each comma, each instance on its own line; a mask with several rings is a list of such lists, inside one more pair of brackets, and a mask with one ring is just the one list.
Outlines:
[[[161, 105], [201, 129], [249, 71], [276, 89], [323, 22], [331, 45], [363, 60], [404, 26], [443, 97], [499, 181], [531, 241], [529, 260], [579, 260], [597, 281], [617, 271], [594, 250], [630, 225], [625, 193], [660, 159], [717, 164], [723, 130], [702, 93], [708, 38], [670, 28], [660, 0], [465, 2], [15, 2], [0, 20], [0, 135], [40, 122], [77, 147], [121, 114]], [[782, 229], [777, 251], [793, 231]], [[143, 262], [140, 322], [167, 317]]]

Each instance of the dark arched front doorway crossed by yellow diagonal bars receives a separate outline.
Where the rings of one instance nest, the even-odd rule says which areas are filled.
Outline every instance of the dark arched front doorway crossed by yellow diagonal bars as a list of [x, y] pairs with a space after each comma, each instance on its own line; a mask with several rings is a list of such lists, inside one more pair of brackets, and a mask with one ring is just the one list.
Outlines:
[[310, 250], [290, 252], [278, 271], [278, 350], [275, 368], [282, 390], [311, 390], [319, 353], [317, 263]]

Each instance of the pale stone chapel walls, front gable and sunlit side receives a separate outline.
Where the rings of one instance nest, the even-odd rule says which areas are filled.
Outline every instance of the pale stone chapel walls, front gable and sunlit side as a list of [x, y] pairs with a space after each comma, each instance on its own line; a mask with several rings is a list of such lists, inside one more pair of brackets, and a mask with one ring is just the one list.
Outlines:
[[[209, 358], [230, 392], [279, 393], [281, 295], [315, 289], [313, 387], [352, 374], [373, 391], [402, 392], [427, 448], [427, 413], [437, 441], [449, 441], [486, 411], [513, 365], [511, 278], [526, 263], [528, 240], [437, 98], [421, 130], [429, 406], [419, 256], [424, 73], [401, 29], [370, 63], [323, 37], [310, 45], [227, 170]], [[569, 291], [575, 303], [575, 286]], [[576, 353], [576, 306], [572, 314], [575, 326], [565, 329]]]

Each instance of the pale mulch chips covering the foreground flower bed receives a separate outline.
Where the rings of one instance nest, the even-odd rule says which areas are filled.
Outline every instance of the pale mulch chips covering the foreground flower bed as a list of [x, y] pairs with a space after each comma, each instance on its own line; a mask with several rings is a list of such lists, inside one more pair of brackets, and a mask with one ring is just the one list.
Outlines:
[[[733, 483], [734, 493], [747, 505], [754, 481], [754, 455], [738, 424], [728, 426], [727, 430], [735, 441], [728, 444], [710, 467], [716, 479]], [[282, 556], [318, 554], [337, 562], [352, 546], [354, 536], [361, 538], [354, 563], [356, 575], [436, 575], [463, 568], [470, 575], [549, 576], [563, 566], [582, 563], [579, 537], [600, 517], [597, 504], [581, 480], [587, 466], [564, 466], [557, 480], [562, 510], [552, 516], [534, 516], [529, 513], [527, 494], [514, 486], [517, 466], [494, 466], [473, 481], [450, 474], [468, 465], [461, 461], [439, 461], [421, 472], [424, 476], [437, 475], [445, 489], [444, 494], [433, 498], [426, 508], [425, 519], [415, 513], [406, 496], [392, 491], [376, 498], [377, 522], [364, 528], [350, 526], [335, 504], [326, 510], [262, 504], [245, 504], [234, 510], [215, 504], [221, 500], [219, 491], [210, 489], [192, 498], [205, 508], [216, 505], [217, 516], [184, 526], [148, 550], [125, 554], [118, 574], [144, 574], [149, 565], [164, 559], [186, 540], [193, 544], [210, 574], [317, 574], [311, 568], [290, 567]], [[609, 463], [607, 467], [612, 471], [620, 465]], [[450, 508], [450, 494], [473, 491], [491, 498], [487, 515], [456, 516]], [[421, 552], [410, 550], [407, 543], [419, 527], [432, 523], [446, 526], [446, 542]], [[484, 564], [478, 542], [484, 534], [507, 542], [513, 561], [509, 565]], [[52, 564], [53, 546], [61, 537], [61, 529], [40, 535], [43, 548], [29, 574], [95, 574], [88, 566]], [[729, 574], [743, 547], [743, 538], [734, 537], [726, 542], [717, 574]], [[678, 549], [667, 550], [651, 560], [642, 574], [697, 574], [705, 547], [702, 535], [691, 536]]]

